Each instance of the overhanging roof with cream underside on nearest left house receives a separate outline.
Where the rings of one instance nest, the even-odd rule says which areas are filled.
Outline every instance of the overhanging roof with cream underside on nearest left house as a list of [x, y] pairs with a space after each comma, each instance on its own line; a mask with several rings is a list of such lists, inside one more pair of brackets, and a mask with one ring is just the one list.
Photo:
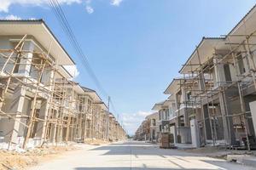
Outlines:
[[[57, 59], [59, 65], [75, 65], [73, 59], [67, 54], [61, 42], [55, 37], [44, 20], [0, 20], [1, 36], [30, 35], [45, 48], [49, 54]], [[51, 46], [51, 47], [50, 47]]]

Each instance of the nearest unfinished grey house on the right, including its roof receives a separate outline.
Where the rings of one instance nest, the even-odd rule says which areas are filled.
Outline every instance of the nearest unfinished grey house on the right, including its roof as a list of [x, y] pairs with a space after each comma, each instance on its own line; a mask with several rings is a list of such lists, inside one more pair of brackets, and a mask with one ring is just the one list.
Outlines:
[[253, 7], [225, 37], [204, 37], [180, 71], [199, 84], [203, 144], [255, 147], [255, 19]]

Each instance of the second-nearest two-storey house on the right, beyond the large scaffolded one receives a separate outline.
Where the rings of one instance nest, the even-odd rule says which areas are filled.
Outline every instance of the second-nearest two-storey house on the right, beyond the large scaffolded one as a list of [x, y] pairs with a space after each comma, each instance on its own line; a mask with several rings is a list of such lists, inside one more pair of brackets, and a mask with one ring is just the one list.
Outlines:
[[191, 134], [194, 133], [195, 116], [200, 107], [194, 98], [198, 94], [198, 84], [192, 82], [191, 77], [175, 78], [164, 92], [170, 95], [169, 125], [176, 146], [193, 143]]

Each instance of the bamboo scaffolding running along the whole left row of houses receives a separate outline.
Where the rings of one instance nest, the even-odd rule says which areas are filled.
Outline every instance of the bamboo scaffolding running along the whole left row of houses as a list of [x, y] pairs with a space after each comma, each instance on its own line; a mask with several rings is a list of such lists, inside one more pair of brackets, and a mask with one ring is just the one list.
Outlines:
[[[106, 112], [100, 104], [79, 94], [78, 83], [61, 73], [51, 55], [32, 44], [28, 36], [11, 41], [14, 48], [0, 49], [0, 135], [19, 144], [59, 144], [103, 139]], [[125, 139], [125, 133], [119, 139]]]

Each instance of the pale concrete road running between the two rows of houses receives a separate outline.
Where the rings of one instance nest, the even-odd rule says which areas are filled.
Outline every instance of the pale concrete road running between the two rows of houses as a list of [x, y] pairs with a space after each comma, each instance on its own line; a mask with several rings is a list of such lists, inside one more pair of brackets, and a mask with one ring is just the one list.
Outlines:
[[125, 142], [103, 146], [87, 146], [31, 170], [174, 170], [174, 169], [230, 169], [253, 170], [183, 150], [163, 150], [157, 145], [143, 142]]

